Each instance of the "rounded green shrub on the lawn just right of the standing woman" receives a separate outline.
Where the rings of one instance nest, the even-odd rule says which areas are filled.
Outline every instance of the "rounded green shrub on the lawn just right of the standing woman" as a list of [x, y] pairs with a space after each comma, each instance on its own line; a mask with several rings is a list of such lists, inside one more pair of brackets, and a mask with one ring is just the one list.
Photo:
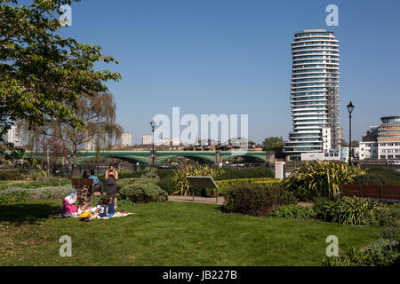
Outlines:
[[150, 201], [167, 201], [168, 193], [154, 184], [125, 185], [121, 188], [120, 197], [134, 203], [146, 203]]

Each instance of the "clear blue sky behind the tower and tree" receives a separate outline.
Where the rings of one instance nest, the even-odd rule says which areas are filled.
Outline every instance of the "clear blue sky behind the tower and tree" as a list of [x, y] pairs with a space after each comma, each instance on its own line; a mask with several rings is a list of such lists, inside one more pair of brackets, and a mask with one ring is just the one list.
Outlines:
[[[339, 7], [327, 27], [325, 8]], [[324, 28], [340, 41], [340, 122], [356, 106], [353, 138], [400, 114], [400, 1], [83, 0], [61, 36], [96, 43], [120, 61], [108, 83], [117, 121], [133, 143], [155, 114], [249, 114], [249, 137], [287, 138], [293, 34]]]

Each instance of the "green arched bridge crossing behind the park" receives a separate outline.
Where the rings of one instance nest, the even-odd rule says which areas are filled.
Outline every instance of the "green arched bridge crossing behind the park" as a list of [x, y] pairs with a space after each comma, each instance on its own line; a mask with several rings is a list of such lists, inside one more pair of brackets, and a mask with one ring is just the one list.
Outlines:
[[[28, 152], [28, 155], [42, 159], [44, 154]], [[76, 162], [90, 162], [95, 159], [96, 151], [79, 151], [76, 155]], [[132, 163], [152, 163], [151, 151], [100, 151], [100, 158], [115, 158]], [[170, 159], [184, 157], [202, 163], [220, 163], [234, 157], [243, 157], [250, 162], [267, 162], [267, 152], [265, 151], [156, 151], [155, 163], [160, 164]]]

